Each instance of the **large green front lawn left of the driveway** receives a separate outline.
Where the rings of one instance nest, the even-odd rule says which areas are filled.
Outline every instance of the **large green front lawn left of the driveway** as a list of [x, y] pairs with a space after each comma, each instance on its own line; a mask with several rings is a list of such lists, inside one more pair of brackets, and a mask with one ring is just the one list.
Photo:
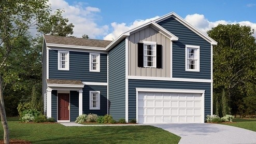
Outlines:
[[[8, 119], [10, 139], [32, 143], [178, 143], [179, 136], [153, 126], [66, 127], [58, 123], [20, 123]], [[2, 126], [1, 126], [2, 127]], [[0, 128], [3, 136], [3, 128]]]

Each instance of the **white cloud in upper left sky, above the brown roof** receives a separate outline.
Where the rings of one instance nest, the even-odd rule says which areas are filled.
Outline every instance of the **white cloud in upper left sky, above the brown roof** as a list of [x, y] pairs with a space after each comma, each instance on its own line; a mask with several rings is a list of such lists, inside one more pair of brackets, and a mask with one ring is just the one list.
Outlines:
[[64, 0], [49, 0], [52, 11], [63, 9], [63, 17], [68, 18], [69, 23], [73, 23], [74, 36], [81, 37], [87, 34], [90, 38], [103, 37], [108, 34], [108, 25], [99, 26], [96, 21], [100, 19], [97, 15], [101, 12], [99, 8], [85, 6], [85, 3], [69, 5]]

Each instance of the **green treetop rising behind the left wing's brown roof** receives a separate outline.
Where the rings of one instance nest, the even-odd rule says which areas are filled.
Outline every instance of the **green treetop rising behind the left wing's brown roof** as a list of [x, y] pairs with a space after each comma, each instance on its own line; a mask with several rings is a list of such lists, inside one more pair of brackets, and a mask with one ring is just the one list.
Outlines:
[[49, 17], [49, 20], [41, 27], [39, 27], [39, 31], [44, 34], [56, 35], [56, 36], [67, 36], [73, 34], [72, 23], [68, 23], [67, 18], [63, 18], [62, 16], [63, 10], [57, 9], [54, 12], [54, 15]]

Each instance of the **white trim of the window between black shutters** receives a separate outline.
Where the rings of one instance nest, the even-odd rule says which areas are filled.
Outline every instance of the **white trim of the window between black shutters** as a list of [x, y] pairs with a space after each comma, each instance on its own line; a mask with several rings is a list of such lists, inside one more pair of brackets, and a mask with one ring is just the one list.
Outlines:
[[[152, 55], [152, 66], [146, 66], [145, 45], [154, 46], [154, 55]], [[152, 50], [153, 51], [153, 50]], [[143, 41], [143, 66], [157, 68], [157, 42], [155, 41]]]

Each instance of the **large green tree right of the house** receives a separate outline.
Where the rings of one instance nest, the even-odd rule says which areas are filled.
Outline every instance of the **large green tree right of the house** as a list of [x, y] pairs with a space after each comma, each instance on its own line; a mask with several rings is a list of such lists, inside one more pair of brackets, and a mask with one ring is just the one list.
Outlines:
[[243, 99], [248, 83], [251, 83], [251, 79], [255, 80], [256, 76], [253, 30], [239, 24], [219, 24], [207, 33], [218, 42], [214, 48], [214, 93], [222, 96], [215, 99], [225, 101], [219, 108], [224, 109], [224, 113], [218, 113], [236, 113], [237, 102]]

